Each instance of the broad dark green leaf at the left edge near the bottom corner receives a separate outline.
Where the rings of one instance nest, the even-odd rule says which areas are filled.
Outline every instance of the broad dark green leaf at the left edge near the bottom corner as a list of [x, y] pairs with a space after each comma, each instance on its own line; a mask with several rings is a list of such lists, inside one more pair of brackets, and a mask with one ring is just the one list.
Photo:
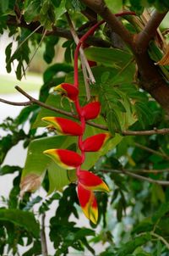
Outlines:
[[0, 220], [7, 220], [19, 225], [36, 238], [40, 235], [40, 225], [32, 213], [24, 212], [20, 209], [0, 209]]

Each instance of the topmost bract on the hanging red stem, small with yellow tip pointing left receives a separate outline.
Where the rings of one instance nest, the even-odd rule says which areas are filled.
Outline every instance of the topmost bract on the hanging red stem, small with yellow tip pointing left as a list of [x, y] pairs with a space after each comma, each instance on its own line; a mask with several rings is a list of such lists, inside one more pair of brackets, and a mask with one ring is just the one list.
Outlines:
[[54, 88], [54, 91], [62, 92], [70, 101], [75, 101], [79, 95], [79, 90], [74, 85], [62, 83]]

